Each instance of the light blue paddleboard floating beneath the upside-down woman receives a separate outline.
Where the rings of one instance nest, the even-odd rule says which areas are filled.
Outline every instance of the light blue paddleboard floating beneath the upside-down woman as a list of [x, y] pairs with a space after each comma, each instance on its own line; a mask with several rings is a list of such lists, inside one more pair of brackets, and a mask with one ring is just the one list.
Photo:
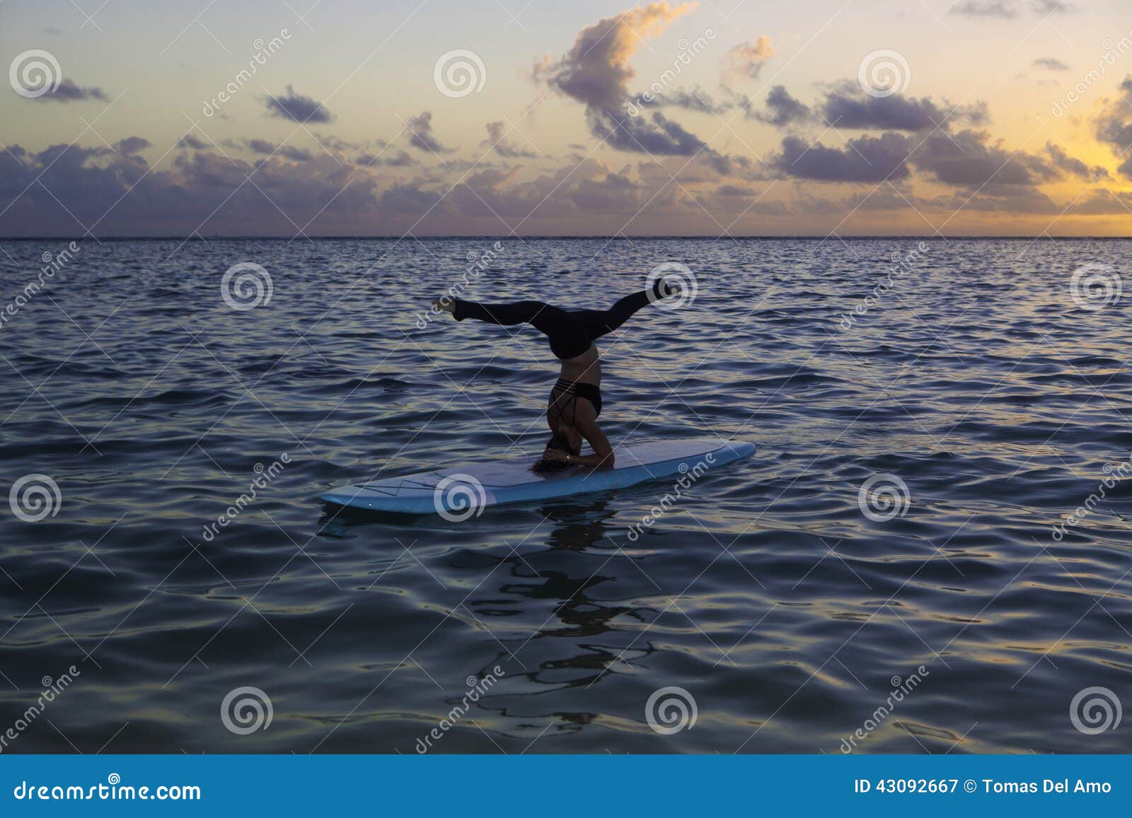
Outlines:
[[530, 457], [473, 463], [455, 468], [406, 474], [333, 489], [324, 502], [394, 514], [479, 516], [488, 506], [551, 500], [624, 489], [637, 483], [691, 474], [700, 479], [719, 466], [747, 457], [754, 444], [718, 439], [662, 440], [615, 447], [612, 468], [573, 466], [534, 472]]

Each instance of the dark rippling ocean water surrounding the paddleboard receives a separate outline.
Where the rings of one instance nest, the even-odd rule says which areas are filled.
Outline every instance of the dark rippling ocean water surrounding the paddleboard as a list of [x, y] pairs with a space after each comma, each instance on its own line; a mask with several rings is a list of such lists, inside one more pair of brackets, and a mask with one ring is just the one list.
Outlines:
[[[76, 247], [0, 243], [3, 752], [1132, 749], [1130, 242]], [[601, 343], [604, 429], [758, 450], [638, 537], [671, 485], [318, 501], [540, 450], [541, 336], [432, 298], [663, 262], [696, 298]]]

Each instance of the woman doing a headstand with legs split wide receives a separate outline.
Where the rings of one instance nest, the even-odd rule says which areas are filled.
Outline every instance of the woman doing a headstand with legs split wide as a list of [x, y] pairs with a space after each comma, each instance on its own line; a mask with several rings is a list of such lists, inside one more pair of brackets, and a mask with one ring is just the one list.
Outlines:
[[[504, 327], [530, 324], [546, 335], [550, 352], [561, 361], [561, 372], [547, 404], [547, 423], [552, 434], [542, 459], [608, 468], [614, 465], [614, 447], [598, 427], [601, 364], [593, 342], [620, 327], [645, 304], [677, 293], [676, 286], [658, 279], [652, 291], [626, 295], [608, 310], [564, 310], [541, 301], [480, 304], [448, 296], [437, 299], [432, 305], [451, 312], [457, 321], [475, 318]], [[583, 439], [593, 447], [592, 455], [582, 454]]]

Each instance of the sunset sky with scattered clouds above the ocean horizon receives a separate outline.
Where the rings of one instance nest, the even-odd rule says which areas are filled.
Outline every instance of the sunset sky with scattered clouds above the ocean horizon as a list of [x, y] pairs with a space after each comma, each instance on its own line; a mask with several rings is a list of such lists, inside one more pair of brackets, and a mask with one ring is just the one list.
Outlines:
[[1129, 235], [1118, 0], [7, 0], [0, 236]]

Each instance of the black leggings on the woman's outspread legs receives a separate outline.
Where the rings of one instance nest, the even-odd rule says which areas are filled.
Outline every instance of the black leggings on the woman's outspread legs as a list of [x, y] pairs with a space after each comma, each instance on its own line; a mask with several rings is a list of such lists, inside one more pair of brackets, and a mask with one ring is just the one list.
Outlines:
[[569, 359], [577, 358], [594, 341], [625, 324], [649, 301], [649, 293], [644, 290], [626, 295], [608, 310], [564, 310], [541, 301], [481, 304], [456, 299], [453, 315], [457, 321], [475, 318], [504, 327], [530, 324], [550, 341], [550, 352], [555, 358]]

